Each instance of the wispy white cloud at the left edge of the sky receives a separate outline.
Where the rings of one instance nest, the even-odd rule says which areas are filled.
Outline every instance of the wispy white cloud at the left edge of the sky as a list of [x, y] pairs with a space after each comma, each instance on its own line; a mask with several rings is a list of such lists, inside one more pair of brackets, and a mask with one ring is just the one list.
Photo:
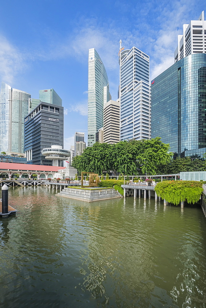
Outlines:
[[0, 34], [0, 79], [11, 84], [14, 77], [25, 69], [25, 55]]

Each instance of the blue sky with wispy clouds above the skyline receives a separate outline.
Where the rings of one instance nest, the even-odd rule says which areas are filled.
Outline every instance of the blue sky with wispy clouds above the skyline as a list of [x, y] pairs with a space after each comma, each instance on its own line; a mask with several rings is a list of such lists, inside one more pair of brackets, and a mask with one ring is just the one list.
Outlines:
[[119, 40], [150, 56], [150, 80], [174, 63], [183, 23], [205, 2], [11, 0], [1, 2], [0, 80], [39, 98], [53, 87], [65, 108], [64, 148], [87, 136], [88, 50], [96, 48], [117, 99]]

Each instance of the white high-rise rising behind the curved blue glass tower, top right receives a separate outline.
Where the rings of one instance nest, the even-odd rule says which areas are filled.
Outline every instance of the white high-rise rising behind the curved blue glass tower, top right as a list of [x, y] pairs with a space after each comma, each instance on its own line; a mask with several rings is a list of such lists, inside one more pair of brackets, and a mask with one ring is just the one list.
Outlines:
[[175, 50], [175, 62], [197, 53], [206, 53], [206, 21], [204, 11], [198, 20], [191, 20], [183, 25], [183, 34], [178, 35], [178, 46]]

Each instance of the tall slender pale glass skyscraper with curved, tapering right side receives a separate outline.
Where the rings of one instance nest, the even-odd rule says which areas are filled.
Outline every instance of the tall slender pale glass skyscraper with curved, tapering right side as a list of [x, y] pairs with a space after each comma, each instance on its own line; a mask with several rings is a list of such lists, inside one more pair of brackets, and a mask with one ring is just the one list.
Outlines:
[[88, 146], [96, 141], [96, 133], [103, 127], [104, 101], [109, 101], [109, 82], [100, 56], [89, 49], [88, 62]]

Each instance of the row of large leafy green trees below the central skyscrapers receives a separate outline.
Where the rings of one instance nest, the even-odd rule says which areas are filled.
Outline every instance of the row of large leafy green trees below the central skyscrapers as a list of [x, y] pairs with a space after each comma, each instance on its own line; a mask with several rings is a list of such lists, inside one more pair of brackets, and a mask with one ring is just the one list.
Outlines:
[[123, 174], [155, 175], [158, 167], [171, 161], [173, 153], [169, 144], [164, 144], [160, 137], [151, 140], [120, 141], [117, 144], [95, 143], [87, 147], [82, 155], [72, 160], [72, 166], [81, 171], [115, 171]]

